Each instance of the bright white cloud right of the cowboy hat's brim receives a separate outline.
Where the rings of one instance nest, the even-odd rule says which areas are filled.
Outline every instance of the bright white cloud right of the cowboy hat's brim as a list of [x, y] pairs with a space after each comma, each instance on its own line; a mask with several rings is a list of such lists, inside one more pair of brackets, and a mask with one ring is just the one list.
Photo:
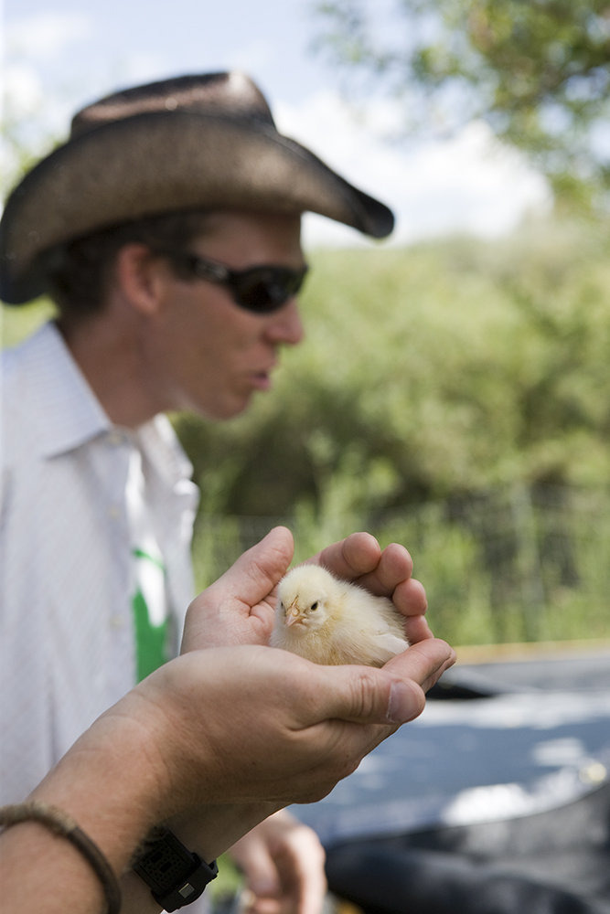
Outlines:
[[[275, 106], [278, 126], [328, 165], [395, 211], [395, 243], [466, 230], [498, 235], [524, 213], [548, 206], [549, 191], [516, 150], [502, 146], [483, 122], [451, 139], [389, 142], [401, 122], [397, 103], [375, 103], [354, 114], [337, 94], [303, 105]], [[354, 244], [353, 231], [327, 219], [305, 220], [305, 243]]]

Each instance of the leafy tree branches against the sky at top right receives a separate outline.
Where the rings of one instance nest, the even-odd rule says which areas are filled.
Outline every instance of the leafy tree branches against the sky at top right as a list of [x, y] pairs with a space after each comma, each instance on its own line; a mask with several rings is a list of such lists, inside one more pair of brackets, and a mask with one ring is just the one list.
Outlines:
[[[560, 198], [607, 206], [609, 0], [314, 2], [315, 48], [352, 87], [407, 101], [413, 130], [483, 118]], [[601, 194], [600, 194], [601, 191]]]

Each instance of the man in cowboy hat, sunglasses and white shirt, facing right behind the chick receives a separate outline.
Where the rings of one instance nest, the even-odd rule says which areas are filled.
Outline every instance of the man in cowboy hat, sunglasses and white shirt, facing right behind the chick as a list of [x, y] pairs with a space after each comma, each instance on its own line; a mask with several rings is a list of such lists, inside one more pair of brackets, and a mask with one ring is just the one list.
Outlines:
[[[278, 350], [303, 335], [294, 296], [307, 210], [374, 237], [393, 224], [279, 134], [237, 73], [91, 104], [9, 197], [1, 297], [48, 293], [59, 317], [3, 365], [5, 801], [176, 654], [197, 491], [162, 413], [225, 420], [270, 388]], [[412, 640], [427, 636], [415, 581], [407, 604]], [[209, 639], [239, 641], [223, 619]], [[296, 833], [307, 849], [291, 855]], [[273, 847], [276, 861], [290, 856], [285, 878]], [[273, 820], [236, 856], [260, 896], [292, 891], [315, 909], [303, 861], [319, 899], [322, 855], [308, 830]]]

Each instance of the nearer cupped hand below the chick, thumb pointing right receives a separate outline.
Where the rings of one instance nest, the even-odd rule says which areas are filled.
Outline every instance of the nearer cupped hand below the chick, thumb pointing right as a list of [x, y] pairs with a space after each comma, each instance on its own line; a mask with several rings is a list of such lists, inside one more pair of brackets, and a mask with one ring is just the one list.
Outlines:
[[191, 652], [136, 687], [123, 714], [150, 734], [160, 802], [175, 807], [159, 818], [209, 802], [312, 802], [417, 717], [454, 660], [433, 639], [382, 669], [258, 646]]

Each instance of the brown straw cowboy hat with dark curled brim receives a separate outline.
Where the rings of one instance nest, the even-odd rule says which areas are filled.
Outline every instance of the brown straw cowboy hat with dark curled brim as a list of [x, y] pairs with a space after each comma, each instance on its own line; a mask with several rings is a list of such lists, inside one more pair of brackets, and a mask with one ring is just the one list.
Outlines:
[[58, 247], [144, 216], [187, 209], [320, 213], [374, 238], [391, 210], [278, 133], [261, 91], [239, 73], [162, 80], [78, 112], [70, 138], [8, 198], [0, 298], [48, 287]]

